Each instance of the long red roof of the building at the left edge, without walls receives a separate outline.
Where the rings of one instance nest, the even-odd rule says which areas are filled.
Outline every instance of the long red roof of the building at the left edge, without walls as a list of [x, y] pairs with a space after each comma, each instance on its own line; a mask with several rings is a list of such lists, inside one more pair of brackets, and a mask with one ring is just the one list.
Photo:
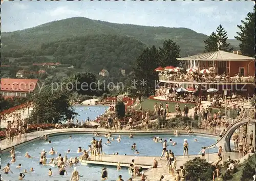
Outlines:
[[38, 83], [38, 79], [1, 79], [1, 91], [8, 92], [33, 92]]

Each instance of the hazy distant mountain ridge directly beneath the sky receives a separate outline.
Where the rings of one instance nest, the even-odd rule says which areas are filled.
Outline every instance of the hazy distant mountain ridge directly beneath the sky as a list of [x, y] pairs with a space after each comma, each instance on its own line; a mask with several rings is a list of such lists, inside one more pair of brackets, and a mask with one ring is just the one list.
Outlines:
[[172, 39], [181, 47], [181, 55], [193, 55], [204, 50], [206, 35], [187, 28], [147, 27], [138, 25], [114, 24], [84, 17], [73, 17], [49, 22], [34, 28], [2, 33], [4, 52], [17, 49], [36, 49], [41, 43], [58, 41], [68, 37], [87, 35], [127, 35], [147, 46], [159, 47], [163, 40]]

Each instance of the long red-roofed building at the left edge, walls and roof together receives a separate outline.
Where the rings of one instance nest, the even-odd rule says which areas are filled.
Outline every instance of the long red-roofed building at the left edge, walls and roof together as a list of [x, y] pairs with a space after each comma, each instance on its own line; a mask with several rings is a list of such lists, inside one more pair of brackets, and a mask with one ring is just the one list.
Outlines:
[[38, 79], [1, 79], [0, 94], [4, 97], [26, 97], [38, 86]]

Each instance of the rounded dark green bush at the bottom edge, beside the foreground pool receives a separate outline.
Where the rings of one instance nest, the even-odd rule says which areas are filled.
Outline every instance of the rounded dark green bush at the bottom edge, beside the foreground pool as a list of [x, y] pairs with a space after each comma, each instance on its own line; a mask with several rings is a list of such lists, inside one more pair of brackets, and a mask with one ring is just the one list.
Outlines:
[[210, 163], [196, 157], [184, 164], [186, 180], [212, 180], [212, 170]]

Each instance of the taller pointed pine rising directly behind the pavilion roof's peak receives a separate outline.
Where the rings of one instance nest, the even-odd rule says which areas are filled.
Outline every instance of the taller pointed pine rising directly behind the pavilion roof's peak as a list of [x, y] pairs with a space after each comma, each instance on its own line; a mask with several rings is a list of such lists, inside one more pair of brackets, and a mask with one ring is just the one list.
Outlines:
[[230, 43], [227, 43], [227, 32], [221, 25], [217, 27], [217, 37], [218, 42], [220, 43], [219, 50], [225, 52], [231, 52], [233, 50], [233, 48], [230, 48]]

